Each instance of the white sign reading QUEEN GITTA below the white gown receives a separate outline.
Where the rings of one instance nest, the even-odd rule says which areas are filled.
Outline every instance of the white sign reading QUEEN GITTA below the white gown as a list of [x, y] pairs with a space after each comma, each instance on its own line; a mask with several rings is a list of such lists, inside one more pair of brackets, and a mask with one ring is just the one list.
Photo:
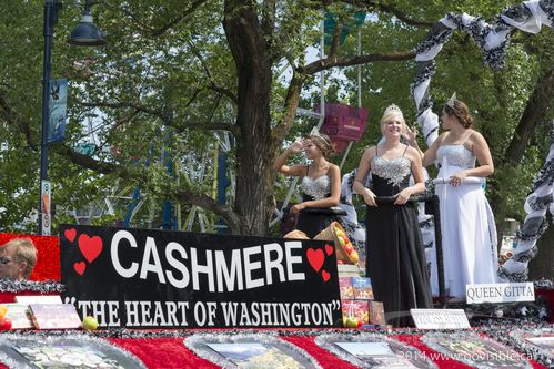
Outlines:
[[534, 301], [533, 283], [479, 284], [465, 286], [467, 304]]

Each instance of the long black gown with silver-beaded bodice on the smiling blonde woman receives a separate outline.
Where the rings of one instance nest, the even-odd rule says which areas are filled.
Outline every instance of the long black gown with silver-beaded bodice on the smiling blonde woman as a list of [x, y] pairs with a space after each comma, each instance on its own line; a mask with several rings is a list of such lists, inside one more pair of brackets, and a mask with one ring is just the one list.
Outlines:
[[[401, 156], [371, 163], [373, 193], [393, 196], [409, 186], [411, 162]], [[432, 308], [425, 255], [414, 203], [367, 206], [367, 262], [375, 300], [383, 301], [387, 324], [412, 326], [412, 308]]]

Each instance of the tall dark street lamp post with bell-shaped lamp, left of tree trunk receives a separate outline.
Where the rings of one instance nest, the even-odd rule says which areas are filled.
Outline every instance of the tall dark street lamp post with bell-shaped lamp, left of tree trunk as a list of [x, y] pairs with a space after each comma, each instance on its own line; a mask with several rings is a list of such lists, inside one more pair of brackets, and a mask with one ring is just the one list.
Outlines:
[[[85, 1], [81, 22], [71, 32], [69, 43], [75, 45], [102, 45], [105, 43], [102, 32], [92, 22], [90, 0]], [[39, 191], [39, 234], [49, 235], [51, 224], [50, 194], [48, 180], [48, 120], [50, 95], [50, 71], [52, 68], [52, 37], [58, 22], [58, 12], [62, 8], [59, 0], [44, 0], [44, 55], [42, 68], [42, 124], [40, 140], [40, 191]]]

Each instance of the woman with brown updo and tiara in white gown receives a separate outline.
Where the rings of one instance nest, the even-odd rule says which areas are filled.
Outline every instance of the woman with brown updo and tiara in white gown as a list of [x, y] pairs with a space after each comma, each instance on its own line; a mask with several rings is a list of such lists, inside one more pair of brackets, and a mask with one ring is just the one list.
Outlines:
[[423, 165], [440, 165], [435, 193], [441, 209], [445, 287], [450, 296], [463, 297], [467, 284], [496, 281], [496, 228], [483, 189], [494, 164], [485, 139], [472, 130], [467, 105], [455, 94], [443, 109], [442, 122], [447, 132], [425, 152]]

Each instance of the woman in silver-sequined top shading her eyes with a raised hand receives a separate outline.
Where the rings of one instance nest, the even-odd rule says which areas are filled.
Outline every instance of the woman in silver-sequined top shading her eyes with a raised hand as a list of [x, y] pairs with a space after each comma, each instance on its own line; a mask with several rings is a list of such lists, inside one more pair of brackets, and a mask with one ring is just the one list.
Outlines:
[[[285, 165], [289, 156], [304, 152], [311, 164]], [[302, 203], [291, 207], [291, 213], [299, 214], [296, 229], [313, 238], [335, 219], [325, 212], [302, 212], [306, 207], [330, 208], [339, 204], [341, 197], [341, 171], [328, 161], [334, 153], [331, 140], [325, 134], [313, 134], [294, 142], [273, 163], [273, 170], [286, 175], [302, 177]]]

